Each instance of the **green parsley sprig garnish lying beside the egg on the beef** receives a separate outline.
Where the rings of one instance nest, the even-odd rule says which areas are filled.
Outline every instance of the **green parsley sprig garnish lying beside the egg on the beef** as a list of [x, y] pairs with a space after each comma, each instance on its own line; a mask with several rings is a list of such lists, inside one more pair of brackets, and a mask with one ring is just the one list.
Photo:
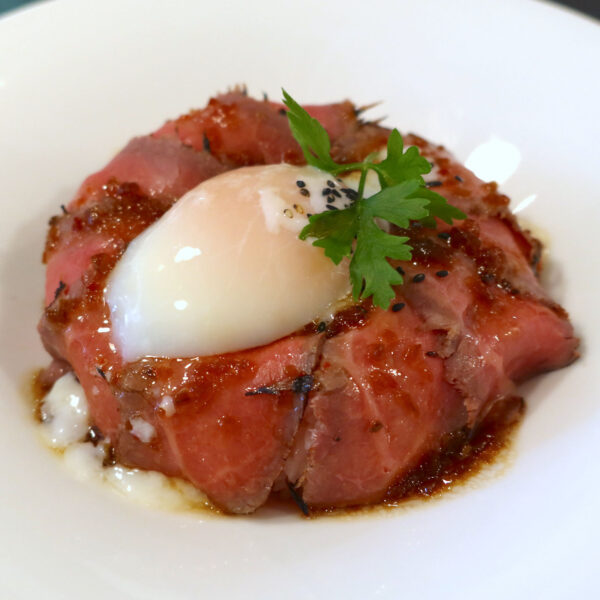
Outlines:
[[[422, 176], [431, 171], [431, 165], [415, 146], [404, 151], [397, 129], [390, 133], [387, 157], [381, 162], [372, 162], [372, 157], [367, 156], [362, 162], [338, 164], [331, 158], [331, 141], [325, 128], [282, 91], [292, 135], [300, 144], [306, 162], [334, 176], [360, 172], [356, 200], [343, 210], [312, 215], [300, 238], [315, 238], [313, 245], [323, 248], [336, 265], [351, 256], [354, 298], [373, 296], [374, 304], [387, 308], [395, 296], [392, 286], [404, 282], [388, 258], [410, 260], [412, 247], [406, 243], [408, 237], [385, 232], [378, 221], [389, 221], [401, 228], [408, 228], [411, 221], [420, 221], [425, 227], [435, 228], [435, 217], [451, 225], [453, 219], [464, 219], [466, 215], [425, 187]], [[377, 173], [381, 191], [365, 198], [369, 171]]]

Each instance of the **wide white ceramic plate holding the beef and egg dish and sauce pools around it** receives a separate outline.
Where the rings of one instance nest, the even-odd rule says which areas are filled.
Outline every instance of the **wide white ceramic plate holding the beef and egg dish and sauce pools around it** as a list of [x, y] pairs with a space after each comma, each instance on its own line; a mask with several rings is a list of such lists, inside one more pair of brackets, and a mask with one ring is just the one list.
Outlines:
[[[0, 21], [0, 596], [594, 595], [599, 59], [596, 23], [523, 0], [59, 1]], [[385, 516], [215, 519], [79, 483], [42, 447], [21, 388], [46, 362], [35, 333], [46, 220], [131, 136], [238, 82], [302, 101], [384, 100], [374, 117], [463, 160], [483, 145], [483, 167], [527, 201], [583, 356], [527, 386], [501, 476]]]

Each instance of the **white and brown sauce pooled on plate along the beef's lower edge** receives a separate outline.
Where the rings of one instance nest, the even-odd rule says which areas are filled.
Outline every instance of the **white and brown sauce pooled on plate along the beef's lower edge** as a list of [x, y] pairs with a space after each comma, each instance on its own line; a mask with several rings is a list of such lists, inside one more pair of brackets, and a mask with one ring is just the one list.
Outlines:
[[[87, 422], [85, 396], [72, 373], [58, 379], [54, 391], [43, 378], [43, 370], [30, 380], [33, 415], [42, 437], [61, 455], [67, 468], [80, 480], [96, 480], [134, 502], [159, 509], [203, 514], [222, 514], [200, 490], [182, 479], [156, 471], [116, 464], [111, 447], [98, 438]], [[54, 396], [52, 395], [54, 393]], [[56, 414], [52, 414], [53, 410]], [[505, 466], [511, 442], [524, 413], [524, 402], [513, 397], [496, 405], [474, 434], [458, 431], [446, 437], [442, 451], [424, 457], [420, 465], [392, 486], [380, 504], [334, 509], [310, 509], [308, 518], [380, 513], [454, 491], [479, 475], [498, 474]], [[83, 424], [87, 425], [85, 428]], [[500, 469], [500, 472], [502, 469]], [[289, 513], [295, 508], [287, 491], [273, 493], [258, 515]], [[306, 507], [301, 505], [306, 514]], [[302, 512], [297, 511], [298, 514]]]

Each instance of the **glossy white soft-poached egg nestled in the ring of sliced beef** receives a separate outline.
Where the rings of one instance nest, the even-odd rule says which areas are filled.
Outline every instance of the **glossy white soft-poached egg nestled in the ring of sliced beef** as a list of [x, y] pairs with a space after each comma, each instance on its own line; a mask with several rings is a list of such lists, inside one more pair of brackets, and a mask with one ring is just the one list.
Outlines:
[[[185, 194], [109, 277], [105, 297], [123, 358], [252, 348], [326, 315], [350, 291], [348, 263], [336, 266], [298, 234], [307, 214], [326, 210], [328, 180], [313, 167], [246, 167]], [[343, 208], [349, 201], [340, 195]]]

